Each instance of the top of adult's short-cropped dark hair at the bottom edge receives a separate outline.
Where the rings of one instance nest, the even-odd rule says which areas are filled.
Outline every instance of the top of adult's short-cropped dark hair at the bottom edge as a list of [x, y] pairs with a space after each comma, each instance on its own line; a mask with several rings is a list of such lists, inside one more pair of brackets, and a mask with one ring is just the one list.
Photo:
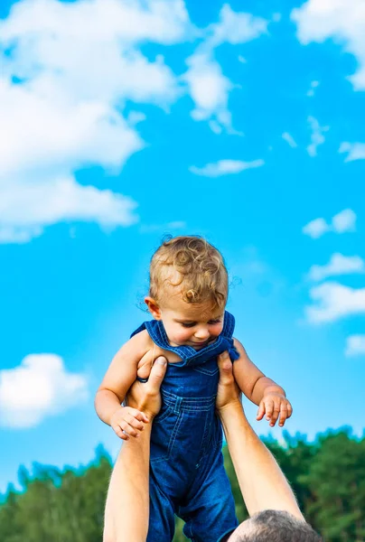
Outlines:
[[250, 519], [255, 533], [243, 535], [241, 542], [323, 542], [305, 521], [284, 510], [264, 510]]

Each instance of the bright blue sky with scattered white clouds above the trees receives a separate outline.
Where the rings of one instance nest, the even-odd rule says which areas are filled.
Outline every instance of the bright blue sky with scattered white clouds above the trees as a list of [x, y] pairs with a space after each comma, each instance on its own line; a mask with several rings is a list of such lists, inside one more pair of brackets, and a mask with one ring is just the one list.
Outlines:
[[0, 491], [20, 464], [117, 453], [93, 398], [164, 233], [220, 248], [285, 428], [362, 434], [365, 8], [241, 9], [2, 3]]

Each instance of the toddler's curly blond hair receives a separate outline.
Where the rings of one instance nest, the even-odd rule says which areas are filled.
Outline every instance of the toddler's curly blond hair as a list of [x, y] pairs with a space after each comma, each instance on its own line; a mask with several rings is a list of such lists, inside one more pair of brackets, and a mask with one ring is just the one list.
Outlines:
[[166, 285], [179, 287], [182, 300], [224, 309], [228, 273], [217, 248], [201, 236], [168, 238], [154, 252], [150, 265], [149, 295], [164, 301]]

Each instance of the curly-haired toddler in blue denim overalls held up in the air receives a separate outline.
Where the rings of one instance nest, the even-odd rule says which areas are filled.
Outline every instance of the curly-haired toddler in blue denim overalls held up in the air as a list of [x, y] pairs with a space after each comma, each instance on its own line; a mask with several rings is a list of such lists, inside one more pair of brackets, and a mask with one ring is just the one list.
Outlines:
[[283, 426], [292, 414], [284, 389], [233, 339], [227, 298], [227, 269], [216, 248], [200, 237], [165, 241], [152, 257], [145, 297], [154, 320], [132, 333], [98, 388], [100, 419], [124, 440], [138, 437], [147, 418], [121, 404], [136, 378], [148, 378], [156, 358], [168, 361], [163, 406], [152, 426], [147, 542], [171, 542], [175, 514], [195, 542], [217, 542], [238, 525], [215, 413], [221, 352], [229, 351], [239, 388], [258, 405], [258, 420], [266, 416], [271, 426], [277, 419]]

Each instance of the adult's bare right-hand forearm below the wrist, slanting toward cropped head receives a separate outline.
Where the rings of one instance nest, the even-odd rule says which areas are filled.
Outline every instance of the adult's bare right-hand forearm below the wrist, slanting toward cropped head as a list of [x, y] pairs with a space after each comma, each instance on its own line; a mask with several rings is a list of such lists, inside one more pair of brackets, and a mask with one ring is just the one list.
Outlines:
[[219, 415], [249, 515], [280, 509], [304, 519], [283, 472], [248, 424], [239, 401], [225, 406]]

